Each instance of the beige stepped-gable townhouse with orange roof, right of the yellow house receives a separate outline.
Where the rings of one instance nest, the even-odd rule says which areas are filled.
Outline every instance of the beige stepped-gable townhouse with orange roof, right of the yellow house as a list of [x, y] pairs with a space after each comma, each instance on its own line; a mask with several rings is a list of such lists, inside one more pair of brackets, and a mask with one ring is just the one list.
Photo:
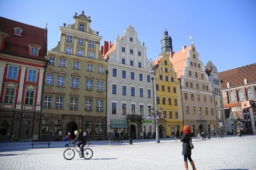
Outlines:
[[192, 39], [190, 46], [172, 54], [171, 62], [181, 82], [184, 125], [190, 126], [194, 135], [211, 135], [217, 127], [214, 95]]

